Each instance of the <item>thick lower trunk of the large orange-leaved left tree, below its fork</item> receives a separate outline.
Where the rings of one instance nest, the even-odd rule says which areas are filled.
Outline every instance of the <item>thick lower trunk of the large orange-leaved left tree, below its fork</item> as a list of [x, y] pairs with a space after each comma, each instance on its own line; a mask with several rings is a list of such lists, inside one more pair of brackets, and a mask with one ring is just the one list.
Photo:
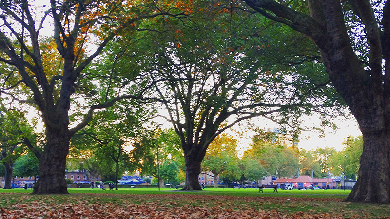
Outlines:
[[32, 194], [68, 194], [65, 181], [66, 156], [69, 137], [65, 131], [47, 131], [47, 145], [39, 159], [39, 179]]

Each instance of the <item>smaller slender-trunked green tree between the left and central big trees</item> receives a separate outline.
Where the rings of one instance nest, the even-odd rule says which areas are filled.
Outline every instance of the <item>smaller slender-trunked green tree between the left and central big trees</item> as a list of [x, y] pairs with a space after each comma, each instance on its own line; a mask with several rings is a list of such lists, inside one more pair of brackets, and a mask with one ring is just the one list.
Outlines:
[[150, 151], [154, 148], [146, 139], [150, 133], [142, 127], [151, 115], [145, 108], [130, 109], [122, 104], [97, 113], [95, 119], [72, 139], [74, 156], [82, 158], [83, 150], [89, 152], [85, 153], [88, 156], [82, 169], [89, 170], [93, 179], [98, 173], [112, 178], [116, 190], [119, 175], [124, 171], [143, 169], [153, 161]]

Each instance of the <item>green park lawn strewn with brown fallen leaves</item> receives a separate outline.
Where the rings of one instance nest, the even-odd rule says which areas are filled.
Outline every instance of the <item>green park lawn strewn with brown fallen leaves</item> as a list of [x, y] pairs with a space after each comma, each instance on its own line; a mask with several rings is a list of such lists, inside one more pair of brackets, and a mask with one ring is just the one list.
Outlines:
[[68, 189], [70, 195], [29, 195], [0, 189], [0, 218], [389, 218], [389, 205], [342, 202], [350, 190], [207, 188]]

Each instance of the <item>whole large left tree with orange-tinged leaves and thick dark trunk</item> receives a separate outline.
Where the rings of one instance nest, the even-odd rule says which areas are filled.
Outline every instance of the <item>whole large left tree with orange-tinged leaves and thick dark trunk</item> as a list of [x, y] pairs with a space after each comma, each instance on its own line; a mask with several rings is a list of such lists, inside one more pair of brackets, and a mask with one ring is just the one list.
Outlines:
[[[33, 194], [63, 194], [68, 193], [64, 174], [71, 137], [88, 124], [94, 110], [110, 107], [124, 98], [142, 99], [142, 94], [116, 93], [110, 87], [110, 95], [98, 98], [99, 93], [88, 92], [86, 84], [79, 84], [87, 78], [84, 69], [119, 33], [134, 30], [148, 18], [169, 16], [165, 10], [177, 8], [157, 5], [156, 1], [137, 4], [106, 0], [51, 0], [49, 5], [35, 8], [27, 0], [0, 3], [0, 61], [8, 70], [1, 77], [1, 94], [26, 108], [35, 107], [45, 124], [44, 150], [39, 152], [27, 145], [39, 159], [39, 180]], [[40, 41], [49, 17], [53, 19], [54, 36]], [[98, 44], [95, 51], [88, 53], [85, 47], [92, 39]], [[82, 111], [75, 100], [86, 97], [90, 101], [83, 102], [86, 105], [82, 110], [87, 113], [70, 116], [73, 110]], [[70, 121], [74, 122], [72, 128]]]

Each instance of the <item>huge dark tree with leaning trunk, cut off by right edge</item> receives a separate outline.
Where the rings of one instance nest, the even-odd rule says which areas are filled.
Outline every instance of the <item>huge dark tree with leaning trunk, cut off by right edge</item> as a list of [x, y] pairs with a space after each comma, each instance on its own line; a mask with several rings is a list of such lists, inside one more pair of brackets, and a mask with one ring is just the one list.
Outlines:
[[317, 45], [332, 85], [356, 118], [364, 148], [345, 201], [390, 203], [390, 1], [244, 1]]

